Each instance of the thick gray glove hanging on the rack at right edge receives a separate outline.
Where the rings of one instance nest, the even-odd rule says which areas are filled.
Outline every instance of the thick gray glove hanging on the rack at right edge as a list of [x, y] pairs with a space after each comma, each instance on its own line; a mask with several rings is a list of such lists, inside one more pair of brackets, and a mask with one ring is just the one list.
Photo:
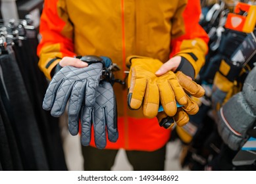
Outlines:
[[243, 90], [220, 108], [218, 133], [232, 150], [238, 150], [248, 138], [247, 129], [256, 120], [256, 67], [248, 74]]

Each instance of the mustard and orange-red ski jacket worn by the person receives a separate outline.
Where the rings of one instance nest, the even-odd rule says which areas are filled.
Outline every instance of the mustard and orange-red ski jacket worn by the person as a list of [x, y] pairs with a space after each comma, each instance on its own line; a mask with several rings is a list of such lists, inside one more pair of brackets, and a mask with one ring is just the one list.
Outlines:
[[[51, 70], [65, 56], [99, 55], [120, 66], [124, 79], [126, 57], [141, 55], [166, 62], [186, 58], [195, 76], [205, 62], [208, 36], [199, 26], [198, 0], [45, 0], [39, 33], [39, 68], [51, 80]], [[129, 110], [127, 89], [114, 85], [119, 139], [106, 149], [156, 150], [166, 144], [170, 130], [157, 119]], [[93, 135], [92, 135], [93, 138]], [[93, 144], [93, 140], [91, 141]]]

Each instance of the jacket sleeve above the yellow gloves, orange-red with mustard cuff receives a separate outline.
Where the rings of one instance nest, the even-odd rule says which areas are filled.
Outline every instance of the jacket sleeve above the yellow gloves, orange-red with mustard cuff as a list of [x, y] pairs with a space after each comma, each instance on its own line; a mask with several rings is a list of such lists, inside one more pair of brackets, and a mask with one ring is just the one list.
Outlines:
[[[172, 18], [172, 41], [170, 57], [181, 56], [193, 66], [194, 77], [205, 63], [209, 37], [199, 25], [201, 5], [199, 0], [179, 1]], [[184, 3], [182, 3], [184, 2]]]

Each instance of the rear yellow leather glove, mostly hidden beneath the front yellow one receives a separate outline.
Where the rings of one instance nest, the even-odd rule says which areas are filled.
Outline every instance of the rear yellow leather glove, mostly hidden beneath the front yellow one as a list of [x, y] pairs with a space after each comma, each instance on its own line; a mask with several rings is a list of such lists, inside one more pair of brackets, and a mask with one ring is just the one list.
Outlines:
[[[165, 75], [160, 76], [159, 80], [160, 78], [165, 78]], [[205, 94], [205, 90], [203, 87], [201, 87], [201, 85], [198, 85], [195, 83], [195, 81], [190, 80], [182, 72], [176, 72], [176, 78], [179, 85], [182, 86], [182, 89], [184, 89], [188, 95], [199, 98]], [[188, 95], [186, 95], [186, 104], [182, 104], [183, 106], [177, 109], [177, 112], [173, 115], [173, 118], [167, 113], [165, 107], [162, 104], [164, 111], [157, 114], [157, 119], [159, 120], [160, 126], [163, 126], [166, 129], [171, 128], [174, 126], [174, 121], [178, 126], [184, 126], [190, 120], [188, 114], [193, 115], [198, 112], [199, 107], [197, 103], [193, 102]]]

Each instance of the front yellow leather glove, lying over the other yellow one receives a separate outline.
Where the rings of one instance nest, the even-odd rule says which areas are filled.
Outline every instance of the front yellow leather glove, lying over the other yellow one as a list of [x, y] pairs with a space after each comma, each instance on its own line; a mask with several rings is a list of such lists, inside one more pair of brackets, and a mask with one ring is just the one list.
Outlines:
[[[127, 59], [127, 62], [130, 64], [128, 106], [131, 109], [137, 110], [142, 105], [144, 116], [153, 118], [158, 114], [159, 101], [161, 101], [167, 116], [176, 114], [176, 102], [190, 114], [198, 111], [198, 106], [192, 103], [186, 92], [197, 95], [201, 93], [199, 90], [201, 88], [191, 85], [191, 80], [184, 74], [181, 72], [174, 74], [169, 71], [163, 76], [155, 76], [155, 72], [163, 63], [153, 58], [132, 56]], [[190, 86], [187, 85], [188, 81]]]

